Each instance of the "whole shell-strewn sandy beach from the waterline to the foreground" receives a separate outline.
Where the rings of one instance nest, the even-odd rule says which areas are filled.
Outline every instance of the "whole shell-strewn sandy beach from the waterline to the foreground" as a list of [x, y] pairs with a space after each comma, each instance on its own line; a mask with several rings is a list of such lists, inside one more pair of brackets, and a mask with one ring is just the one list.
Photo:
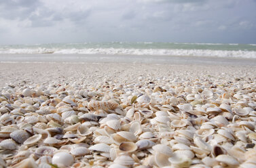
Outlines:
[[190, 59], [0, 63], [1, 164], [249, 164], [256, 152], [255, 60]]

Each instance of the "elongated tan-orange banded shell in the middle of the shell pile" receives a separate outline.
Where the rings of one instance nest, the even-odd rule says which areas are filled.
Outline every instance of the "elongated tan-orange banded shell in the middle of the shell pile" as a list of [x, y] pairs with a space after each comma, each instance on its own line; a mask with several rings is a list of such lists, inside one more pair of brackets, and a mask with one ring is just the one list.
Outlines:
[[88, 108], [90, 110], [115, 110], [118, 104], [114, 100], [108, 102], [90, 101]]

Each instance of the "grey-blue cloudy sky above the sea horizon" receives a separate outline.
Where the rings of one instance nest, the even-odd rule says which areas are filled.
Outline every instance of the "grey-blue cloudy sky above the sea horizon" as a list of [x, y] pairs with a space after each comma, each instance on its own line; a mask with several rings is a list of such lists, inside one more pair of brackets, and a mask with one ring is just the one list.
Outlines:
[[0, 0], [0, 44], [256, 43], [256, 0]]

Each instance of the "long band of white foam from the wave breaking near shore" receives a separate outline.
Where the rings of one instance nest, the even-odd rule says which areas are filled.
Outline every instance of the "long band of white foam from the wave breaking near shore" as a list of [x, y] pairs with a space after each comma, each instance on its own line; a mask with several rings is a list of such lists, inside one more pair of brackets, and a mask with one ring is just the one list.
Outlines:
[[256, 58], [256, 51], [227, 51], [213, 49], [126, 49], [126, 48], [87, 48], [87, 49], [60, 49], [60, 48], [26, 48], [0, 49], [0, 54], [123, 54], [149, 56], [211, 56], [223, 58]]

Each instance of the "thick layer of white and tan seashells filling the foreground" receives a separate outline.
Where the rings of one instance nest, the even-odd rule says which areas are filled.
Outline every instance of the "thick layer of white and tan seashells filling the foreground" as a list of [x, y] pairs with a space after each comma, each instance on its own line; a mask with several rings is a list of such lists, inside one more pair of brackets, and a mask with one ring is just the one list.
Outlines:
[[256, 81], [5, 87], [0, 167], [256, 167]]

